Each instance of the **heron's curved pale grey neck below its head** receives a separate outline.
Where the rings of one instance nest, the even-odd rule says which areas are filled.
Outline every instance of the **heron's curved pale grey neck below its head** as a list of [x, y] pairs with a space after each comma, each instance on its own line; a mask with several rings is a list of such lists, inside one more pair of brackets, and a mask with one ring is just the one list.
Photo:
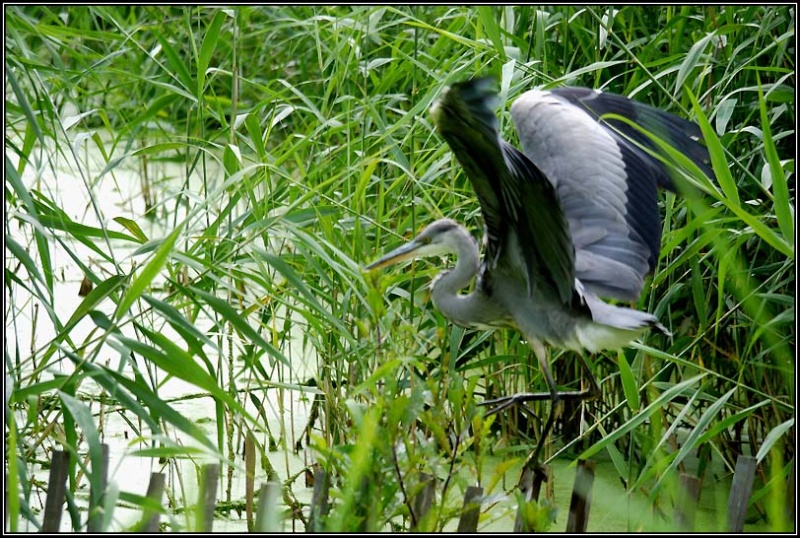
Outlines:
[[480, 253], [478, 244], [470, 233], [459, 227], [454, 235], [453, 249], [457, 256], [456, 266], [441, 273], [433, 281], [431, 298], [436, 308], [444, 316], [455, 322], [471, 322], [472, 313], [469, 311], [470, 295], [460, 295], [459, 291], [472, 283], [480, 267]]

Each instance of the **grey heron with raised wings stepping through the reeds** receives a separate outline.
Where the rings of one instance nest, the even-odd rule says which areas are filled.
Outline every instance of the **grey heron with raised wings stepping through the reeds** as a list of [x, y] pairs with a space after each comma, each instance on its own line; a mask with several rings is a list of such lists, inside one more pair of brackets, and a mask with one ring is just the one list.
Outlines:
[[[515, 329], [533, 348], [549, 392], [483, 403], [493, 406], [493, 413], [512, 404], [552, 401], [530, 458], [536, 461], [557, 402], [599, 395], [584, 351], [625, 347], [649, 329], [669, 334], [655, 316], [601, 299], [639, 299], [660, 251], [657, 189], [674, 190], [671, 167], [631, 123], [713, 176], [699, 127], [655, 107], [585, 88], [531, 90], [511, 106], [520, 152], [499, 136], [495, 100], [494, 81], [479, 78], [453, 84], [431, 108], [437, 131], [478, 197], [483, 258], [469, 231], [441, 219], [366, 269], [457, 256], [455, 267], [433, 280], [431, 299], [452, 322]], [[474, 291], [463, 293], [476, 278]], [[559, 391], [545, 343], [577, 351], [590, 387]]]

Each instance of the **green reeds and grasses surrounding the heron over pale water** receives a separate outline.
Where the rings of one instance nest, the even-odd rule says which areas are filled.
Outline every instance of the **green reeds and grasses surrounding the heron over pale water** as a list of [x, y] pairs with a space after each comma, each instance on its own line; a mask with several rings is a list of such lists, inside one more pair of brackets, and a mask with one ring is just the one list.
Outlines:
[[[688, 170], [692, 189], [662, 197], [662, 258], [639, 307], [673, 337], [592, 357], [603, 399], [564, 411], [549, 454], [613, 462], [617, 530], [644, 525], [629, 502], [650, 508], [645, 528], [669, 529], [681, 471], [713, 481], [712, 460], [724, 475], [751, 454], [751, 521], [791, 529], [793, 6], [5, 10], [11, 530], [40, 524], [34, 471], [54, 449], [77, 456], [68, 487], [88, 497], [104, 413], [167, 466], [239, 469], [247, 434], [267, 464], [293, 448], [288, 402], [302, 395], [322, 396], [303, 441], [333, 477], [324, 528], [452, 528], [478, 482], [493, 496], [482, 525], [502, 515], [540, 424], [484, 419], [478, 403], [544, 387], [530, 349], [448, 324], [425, 289], [438, 262], [360, 269], [443, 215], [482, 230], [427, 111], [447, 83], [486, 73], [501, 81], [507, 138], [524, 90], [603, 88], [697, 120], [717, 175]], [[164, 176], [166, 163], [180, 173]], [[131, 170], [141, 184], [119, 180]], [[85, 206], [65, 206], [66, 184]], [[115, 210], [109, 190], [133, 194]], [[70, 283], [65, 296], [65, 266], [91, 291]], [[552, 358], [575, 386], [574, 358]], [[211, 437], [165, 395], [170, 379], [213, 397]], [[420, 470], [440, 496], [415, 521]], [[281, 477], [290, 490], [294, 478]], [[167, 487], [177, 498], [184, 485]]]

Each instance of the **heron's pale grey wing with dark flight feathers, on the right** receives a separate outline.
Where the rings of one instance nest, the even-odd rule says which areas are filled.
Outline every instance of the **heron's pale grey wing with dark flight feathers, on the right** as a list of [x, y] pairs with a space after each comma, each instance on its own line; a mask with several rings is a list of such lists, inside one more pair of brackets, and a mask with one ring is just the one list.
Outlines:
[[[625, 97], [584, 88], [529, 91], [511, 107], [523, 151], [556, 189], [575, 247], [575, 275], [598, 295], [637, 300], [661, 243], [657, 188], [669, 168], [627, 118], [711, 174], [699, 128]], [[657, 152], [657, 151], [656, 151]]]

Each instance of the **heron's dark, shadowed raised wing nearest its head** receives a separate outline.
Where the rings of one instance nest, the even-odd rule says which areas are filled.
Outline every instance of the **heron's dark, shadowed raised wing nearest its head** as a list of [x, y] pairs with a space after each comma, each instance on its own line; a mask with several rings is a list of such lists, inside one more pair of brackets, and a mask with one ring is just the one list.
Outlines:
[[[486, 226], [489, 268], [516, 235], [520, 272], [528, 293], [534, 282], [557, 290], [565, 304], [574, 300], [574, 250], [553, 184], [525, 155], [500, 139], [492, 110], [494, 81], [454, 84], [432, 108], [439, 133], [467, 173]], [[516, 253], [505, 259], [516, 260]]]

